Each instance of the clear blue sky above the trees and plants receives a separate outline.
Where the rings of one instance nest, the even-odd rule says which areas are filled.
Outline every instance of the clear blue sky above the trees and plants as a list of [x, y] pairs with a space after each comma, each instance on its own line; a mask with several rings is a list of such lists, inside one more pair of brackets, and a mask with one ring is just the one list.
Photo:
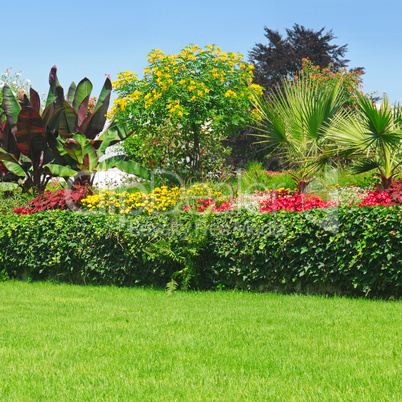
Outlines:
[[1, 14], [0, 73], [22, 70], [46, 94], [54, 64], [65, 91], [88, 77], [97, 96], [106, 73], [142, 76], [152, 49], [215, 43], [247, 59], [256, 43], [267, 43], [264, 26], [284, 34], [297, 23], [332, 29], [331, 43], [348, 44], [348, 67], [365, 67], [363, 90], [402, 101], [400, 0], [9, 0]]

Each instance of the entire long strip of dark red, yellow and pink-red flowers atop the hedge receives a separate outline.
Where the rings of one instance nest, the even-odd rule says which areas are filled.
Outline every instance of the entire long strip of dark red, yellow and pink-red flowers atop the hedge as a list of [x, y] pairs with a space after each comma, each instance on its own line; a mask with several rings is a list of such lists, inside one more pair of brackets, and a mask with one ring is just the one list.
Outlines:
[[[398, 184], [399, 185], [399, 184]], [[396, 186], [396, 185], [395, 185]], [[290, 189], [255, 191], [252, 195], [239, 197], [224, 196], [208, 184], [195, 184], [188, 189], [179, 187], [157, 187], [150, 193], [128, 193], [100, 190], [98, 194], [85, 186], [76, 186], [74, 191], [61, 189], [46, 191], [24, 207], [14, 210], [17, 215], [36, 213], [53, 209], [76, 209], [88, 211], [151, 215], [157, 212], [184, 210], [193, 212], [223, 212], [246, 207], [254, 211], [305, 211], [312, 208], [337, 207], [342, 205], [375, 206], [398, 205], [402, 203], [400, 191], [395, 186], [388, 191], [369, 191], [357, 187], [330, 191], [332, 199], [323, 201], [313, 194], [294, 194]]]

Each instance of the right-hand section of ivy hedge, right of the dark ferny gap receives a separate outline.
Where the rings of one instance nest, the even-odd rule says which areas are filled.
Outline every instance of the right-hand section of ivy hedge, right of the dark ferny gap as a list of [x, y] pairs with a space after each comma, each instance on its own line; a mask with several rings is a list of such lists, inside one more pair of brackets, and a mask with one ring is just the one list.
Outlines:
[[211, 248], [222, 275], [236, 273], [229, 276], [232, 286], [240, 279], [254, 289], [334, 286], [350, 294], [400, 294], [401, 219], [400, 208], [379, 207], [233, 214], [215, 222], [220, 235]]

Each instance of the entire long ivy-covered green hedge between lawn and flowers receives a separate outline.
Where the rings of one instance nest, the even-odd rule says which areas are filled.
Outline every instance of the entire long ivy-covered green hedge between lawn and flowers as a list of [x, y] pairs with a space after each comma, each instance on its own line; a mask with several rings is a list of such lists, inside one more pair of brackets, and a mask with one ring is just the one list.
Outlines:
[[0, 271], [82, 284], [395, 296], [402, 207], [0, 216]]

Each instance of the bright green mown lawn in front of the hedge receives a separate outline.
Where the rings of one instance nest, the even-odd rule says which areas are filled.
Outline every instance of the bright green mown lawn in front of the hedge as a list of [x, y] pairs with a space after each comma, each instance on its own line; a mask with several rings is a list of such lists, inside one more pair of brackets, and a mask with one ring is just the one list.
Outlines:
[[0, 400], [402, 400], [402, 304], [0, 283]]

